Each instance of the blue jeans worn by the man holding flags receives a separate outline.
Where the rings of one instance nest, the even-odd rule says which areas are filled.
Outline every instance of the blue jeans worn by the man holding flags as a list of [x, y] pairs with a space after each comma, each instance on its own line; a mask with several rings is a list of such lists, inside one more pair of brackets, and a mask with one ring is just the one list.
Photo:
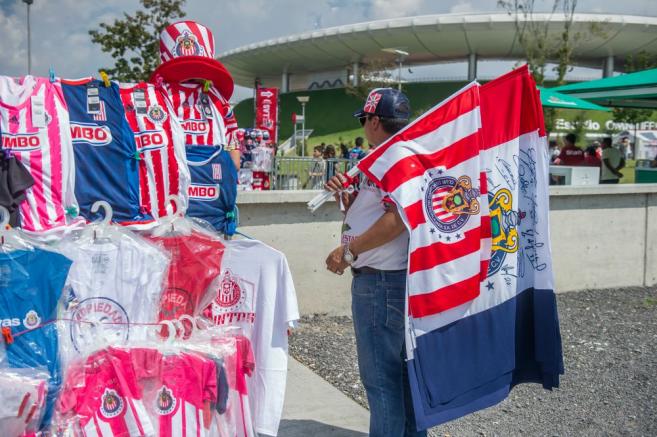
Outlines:
[[406, 271], [356, 273], [351, 311], [370, 437], [426, 436], [415, 428], [404, 360]]

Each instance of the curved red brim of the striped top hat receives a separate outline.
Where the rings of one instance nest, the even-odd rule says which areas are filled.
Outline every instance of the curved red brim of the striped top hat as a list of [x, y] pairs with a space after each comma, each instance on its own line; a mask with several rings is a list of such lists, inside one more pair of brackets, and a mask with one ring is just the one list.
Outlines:
[[160, 64], [151, 75], [150, 82], [162, 76], [166, 82], [180, 83], [188, 80], [209, 80], [219, 90], [221, 96], [230, 100], [235, 89], [233, 77], [226, 67], [216, 59], [203, 56], [184, 56], [173, 58]]

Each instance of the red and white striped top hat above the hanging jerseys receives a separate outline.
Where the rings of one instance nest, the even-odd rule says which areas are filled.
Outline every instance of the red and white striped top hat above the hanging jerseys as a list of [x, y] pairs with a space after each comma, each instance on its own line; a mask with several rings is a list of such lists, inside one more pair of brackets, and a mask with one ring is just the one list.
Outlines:
[[202, 24], [179, 21], [167, 26], [160, 34], [160, 59], [151, 82], [158, 76], [173, 83], [209, 80], [226, 100], [233, 95], [233, 78], [214, 58], [214, 36]]

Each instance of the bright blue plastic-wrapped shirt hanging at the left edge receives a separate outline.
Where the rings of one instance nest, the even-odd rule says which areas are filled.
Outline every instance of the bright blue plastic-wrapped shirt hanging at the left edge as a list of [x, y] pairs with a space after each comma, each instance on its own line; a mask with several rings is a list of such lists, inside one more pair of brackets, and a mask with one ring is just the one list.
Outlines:
[[49, 372], [44, 425], [50, 422], [61, 384], [57, 328], [46, 322], [56, 316], [70, 267], [71, 260], [46, 250], [0, 253], [0, 320], [14, 335], [23, 332], [7, 345], [7, 364]]

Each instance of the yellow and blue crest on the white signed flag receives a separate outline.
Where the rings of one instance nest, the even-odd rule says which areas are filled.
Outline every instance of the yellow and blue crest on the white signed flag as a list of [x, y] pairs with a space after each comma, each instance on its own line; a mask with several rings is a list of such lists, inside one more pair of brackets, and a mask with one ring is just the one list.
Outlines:
[[507, 253], [518, 251], [517, 227], [525, 217], [525, 213], [512, 209], [513, 197], [511, 191], [506, 188], [496, 193], [488, 193], [488, 204], [493, 242], [488, 276], [492, 276], [502, 268]]

